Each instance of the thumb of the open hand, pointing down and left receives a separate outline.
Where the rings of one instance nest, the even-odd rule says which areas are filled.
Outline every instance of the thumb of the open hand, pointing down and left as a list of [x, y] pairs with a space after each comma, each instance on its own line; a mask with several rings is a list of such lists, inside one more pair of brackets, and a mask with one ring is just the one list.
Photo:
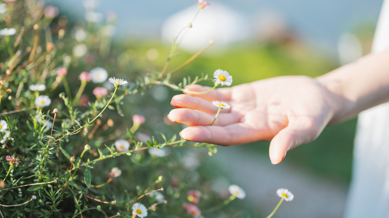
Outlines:
[[280, 163], [286, 152], [308, 143], [317, 137], [314, 122], [308, 118], [295, 118], [279, 131], [270, 142], [269, 156], [272, 164]]

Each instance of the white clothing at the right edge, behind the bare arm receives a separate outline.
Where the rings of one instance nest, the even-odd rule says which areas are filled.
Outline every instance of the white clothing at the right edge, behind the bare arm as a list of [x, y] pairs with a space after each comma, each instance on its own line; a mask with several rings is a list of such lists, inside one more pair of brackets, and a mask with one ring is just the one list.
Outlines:
[[[386, 48], [389, 48], [389, 0], [384, 0], [381, 9], [372, 52]], [[389, 218], [389, 103], [358, 116], [345, 218]]]

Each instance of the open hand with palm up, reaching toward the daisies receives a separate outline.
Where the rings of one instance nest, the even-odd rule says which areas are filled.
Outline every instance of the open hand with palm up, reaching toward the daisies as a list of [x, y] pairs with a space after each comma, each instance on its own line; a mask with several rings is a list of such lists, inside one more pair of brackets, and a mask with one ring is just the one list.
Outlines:
[[[192, 85], [184, 90], [203, 92], [209, 87]], [[189, 92], [188, 92], [189, 93]], [[271, 140], [270, 160], [280, 163], [288, 150], [317, 138], [334, 115], [328, 101], [331, 93], [317, 80], [305, 76], [283, 76], [231, 88], [219, 88], [202, 95], [177, 95], [168, 117], [190, 125], [182, 138], [230, 146]], [[230, 109], [217, 112], [212, 101], [228, 103]]]

